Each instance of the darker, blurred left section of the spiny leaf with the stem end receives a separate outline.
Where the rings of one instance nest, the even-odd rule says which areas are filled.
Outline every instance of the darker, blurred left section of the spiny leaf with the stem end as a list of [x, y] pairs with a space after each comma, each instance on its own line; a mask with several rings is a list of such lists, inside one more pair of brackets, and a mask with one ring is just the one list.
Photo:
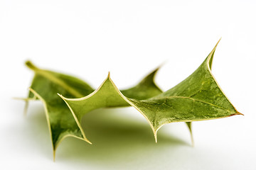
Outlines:
[[55, 155], [59, 143], [68, 136], [90, 143], [80, 126], [75, 123], [68, 106], [56, 94], [61, 91], [70, 98], [76, 98], [86, 96], [94, 89], [75, 77], [38, 69], [31, 62], [26, 62], [26, 65], [35, 72], [28, 98], [33, 98], [34, 95], [43, 102], [53, 142], [53, 154]]

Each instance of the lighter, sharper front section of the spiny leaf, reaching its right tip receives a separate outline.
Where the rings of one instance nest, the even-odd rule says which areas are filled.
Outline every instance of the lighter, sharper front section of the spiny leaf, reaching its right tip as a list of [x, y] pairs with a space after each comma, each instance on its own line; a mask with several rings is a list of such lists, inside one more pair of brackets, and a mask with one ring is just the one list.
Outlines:
[[[218, 43], [217, 43], [218, 45]], [[60, 95], [73, 113], [78, 125], [86, 113], [105, 107], [133, 106], [149, 122], [156, 133], [161, 126], [174, 122], [192, 122], [241, 115], [215, 81], [210, 70], [215, 48], [191, 76], [174, 88], [148, 99], [129, 98], [117, 89], [110, 74], [92, 94], [82, 98], [67, 98]], [[191, 123], [187, 123], [191, 130]]]

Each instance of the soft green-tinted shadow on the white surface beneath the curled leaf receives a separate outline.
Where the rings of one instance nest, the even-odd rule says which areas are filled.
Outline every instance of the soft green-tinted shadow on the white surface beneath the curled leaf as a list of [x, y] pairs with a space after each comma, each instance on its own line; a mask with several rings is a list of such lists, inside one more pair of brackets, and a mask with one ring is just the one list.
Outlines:
[[[175, 149], [188, 145], [176, 137], [158, 133], [158, 143], [146, 120], [131, 118], [119, 109], [105, 108], [87, 113], [82, 119], [82, 128], [92, 145], [68, 137], [57, 149], [56, 161], [73, 160], [86, 164], [123, 164], [128, 160]], [[128, 113], [129, 114], [129, 113]]]

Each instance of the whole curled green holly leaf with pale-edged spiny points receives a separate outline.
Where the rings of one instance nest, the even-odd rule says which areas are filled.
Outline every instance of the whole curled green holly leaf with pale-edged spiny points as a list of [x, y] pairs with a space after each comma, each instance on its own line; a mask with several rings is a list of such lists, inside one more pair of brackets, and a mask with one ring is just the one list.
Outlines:
[[[137, 86], [121, 91], [110, 79], [109, 73], [95, 90], [78, 78], [39, 69], [31, 62], [26, 62], [35, 73], [28, 99], [43, 102], [54, 155], [60, 142], [68, 136], [91, 143], [82, 129], [82, 117], [97, 108], [136, 108], [148, 121], [156, 142], [157, 131], [167, 123], [185, 122], [192, 134], [193, 121], [242, 115], [223, 94], [211, 72], [217, 45], [193, 74], [165, 92], [154, 82], [159, 68]], [[192, 135], [191, 138], [193, 141]]]

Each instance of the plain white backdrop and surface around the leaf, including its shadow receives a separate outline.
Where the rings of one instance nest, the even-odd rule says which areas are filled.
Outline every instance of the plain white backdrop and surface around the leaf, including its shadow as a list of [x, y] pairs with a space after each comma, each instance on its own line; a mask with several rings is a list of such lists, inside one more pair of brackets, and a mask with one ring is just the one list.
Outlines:
[[[256, 169], [255, 1], [0, 1], [0, 166], [4, 169]], [[97, 88], [110, 71], [125, 89], [165, 63], [163, 90], [188, 77], [222, 37], [213, 74], [244, 114], [159, 130], [132, 108], [87, 117], [93, 145], [68, 138], [53, 162], [43, 106], [23, 101], [33, 73], [73, 74]], [[1, 168], [2, 169], [2, 168]]]

